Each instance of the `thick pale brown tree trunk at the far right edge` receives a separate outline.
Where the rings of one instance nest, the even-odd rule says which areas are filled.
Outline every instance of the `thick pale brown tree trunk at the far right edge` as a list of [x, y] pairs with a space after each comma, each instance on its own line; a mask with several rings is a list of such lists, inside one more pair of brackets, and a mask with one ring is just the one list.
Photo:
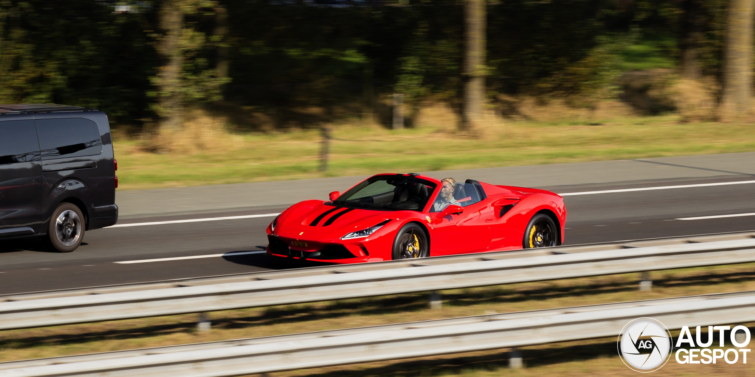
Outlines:
[[750, 113], [753, 5], [755, 0], [729, 0], [721, 104], [724, 120], [741, 118]]

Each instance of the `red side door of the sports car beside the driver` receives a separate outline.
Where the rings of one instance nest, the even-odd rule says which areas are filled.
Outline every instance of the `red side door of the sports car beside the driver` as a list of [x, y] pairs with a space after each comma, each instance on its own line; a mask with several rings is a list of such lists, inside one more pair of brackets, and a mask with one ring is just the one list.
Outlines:
[[[433, 215], [439, 214], [430, 214]], [[495, 216], [487, 201], [467, 205], [463, 213], [438, 220], [430, 234], [430, 256], [475, 253], [488, 249]]]

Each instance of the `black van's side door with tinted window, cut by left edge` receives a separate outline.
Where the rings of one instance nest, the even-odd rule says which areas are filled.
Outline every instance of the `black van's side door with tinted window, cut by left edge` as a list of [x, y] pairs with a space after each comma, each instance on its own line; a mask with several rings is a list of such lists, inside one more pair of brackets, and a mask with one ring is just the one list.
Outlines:
[[0, 238], [39, 233], [42, 163], [34, 121], [0, 121]]

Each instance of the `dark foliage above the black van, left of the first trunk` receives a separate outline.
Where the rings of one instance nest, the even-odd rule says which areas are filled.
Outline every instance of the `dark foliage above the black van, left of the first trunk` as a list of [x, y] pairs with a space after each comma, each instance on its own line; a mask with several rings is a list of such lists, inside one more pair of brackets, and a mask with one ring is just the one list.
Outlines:
[[154, 48], [146, 14], [91, 0], [0, 1], [0, 103], [66, 103], [145, 116]]

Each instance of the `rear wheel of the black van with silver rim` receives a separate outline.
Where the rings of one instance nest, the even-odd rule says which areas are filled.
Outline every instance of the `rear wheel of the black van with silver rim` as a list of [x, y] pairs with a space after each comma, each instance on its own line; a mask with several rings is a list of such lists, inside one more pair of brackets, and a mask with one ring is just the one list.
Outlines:
[[48, 225], [48, 240], [60, 253], [70, 253], [84, 239], [84, 214], [71, 203], [61, 203], [55, 208]]

